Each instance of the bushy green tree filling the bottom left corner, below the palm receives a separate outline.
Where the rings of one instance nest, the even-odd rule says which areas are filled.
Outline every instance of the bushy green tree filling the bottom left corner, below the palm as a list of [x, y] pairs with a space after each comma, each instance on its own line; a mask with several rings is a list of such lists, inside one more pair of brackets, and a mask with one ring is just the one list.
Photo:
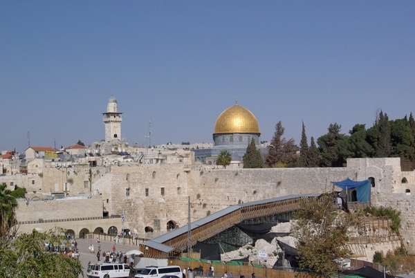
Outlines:
[[45, 243], [66, 241], [64, 230], [20, 234], [14, 241], [0, 241], [0, 277], [73, 277], [83, 274], [80, 261], [45, 250]]

